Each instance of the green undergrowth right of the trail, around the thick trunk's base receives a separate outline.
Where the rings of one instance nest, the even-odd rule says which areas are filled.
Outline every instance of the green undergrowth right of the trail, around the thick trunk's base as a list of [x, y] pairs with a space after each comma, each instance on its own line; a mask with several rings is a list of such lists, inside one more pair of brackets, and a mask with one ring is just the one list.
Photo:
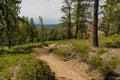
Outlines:
[[[120, 48], [120, 35], [100, 38], [100, 48], [92, 48], [91, 43], [91, 40], [59, 41], [52, 51], [62, 57], [62, 59], [77, 53], [75, 55], [77, 59], [99, 70], [105, 77], [105, 80], [114, 80], [112, 79], [115, 76], [114, 69], [117, 65], [120, 65], [120, 57], [116, 57], [113, 54], [109, 60], [104, 61], [101, 56], [108, 53], [111, 48]], [[106, 59], [108, 59], [108, 57], [106, 57]]]

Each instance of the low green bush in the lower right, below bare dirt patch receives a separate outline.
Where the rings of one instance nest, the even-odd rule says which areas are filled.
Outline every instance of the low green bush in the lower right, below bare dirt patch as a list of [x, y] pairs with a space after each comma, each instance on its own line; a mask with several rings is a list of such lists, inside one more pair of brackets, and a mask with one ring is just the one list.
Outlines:
[[120, 59], [113, 56], [111, 59], [103, 61], [103, 59], [97, 55], [89, 61], [89, 64], [92, 68], [99, 70], [105, 78], [110, 78], [115, 75], [114, 69], [120, 64]]

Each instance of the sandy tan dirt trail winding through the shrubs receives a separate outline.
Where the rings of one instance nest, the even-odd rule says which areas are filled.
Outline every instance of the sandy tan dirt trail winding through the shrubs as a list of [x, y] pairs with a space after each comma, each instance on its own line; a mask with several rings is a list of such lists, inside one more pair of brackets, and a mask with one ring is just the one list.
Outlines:
[[55, 72], [56, 80], [90, 80], [86, 73], [87, 64], [79, 63], [76, 59], [66, 62], [60, 60], [58, 56], [49, 53], [49, 48], [54, 46], [55, 44], [45, 48], [34, 48], [34, 50], [38, 53], [37, 58], [46, 61]]

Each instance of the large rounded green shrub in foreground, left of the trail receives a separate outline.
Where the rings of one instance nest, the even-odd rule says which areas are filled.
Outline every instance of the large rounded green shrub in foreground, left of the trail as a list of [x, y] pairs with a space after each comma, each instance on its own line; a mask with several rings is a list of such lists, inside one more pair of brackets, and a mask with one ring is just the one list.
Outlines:
[[20, 63], [17, 80], [55, 80], [55, 74], [45, 62], [26, 59]]

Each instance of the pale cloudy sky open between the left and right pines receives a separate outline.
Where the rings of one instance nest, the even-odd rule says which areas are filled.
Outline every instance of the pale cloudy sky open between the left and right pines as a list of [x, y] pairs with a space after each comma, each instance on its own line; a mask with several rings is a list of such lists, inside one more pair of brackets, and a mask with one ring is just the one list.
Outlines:
[[44, 24], [57, 24], [62, 16], [62, 3], [63, 0], [22, 0], [19, 15], [33, 18], [35, 23], [42, 16]]

